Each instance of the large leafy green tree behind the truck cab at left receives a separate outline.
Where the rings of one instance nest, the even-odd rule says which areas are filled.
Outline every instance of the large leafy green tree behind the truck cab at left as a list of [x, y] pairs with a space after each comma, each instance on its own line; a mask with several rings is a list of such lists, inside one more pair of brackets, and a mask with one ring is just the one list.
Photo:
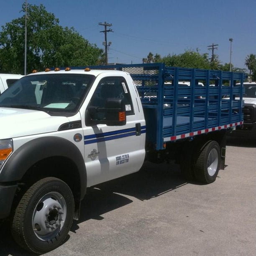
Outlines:
[[[2, 26], [0, 32], [0, 72], [24, 71], [24, 15]], [[100, 64], [103, 50], [90, 44], [74, 28], [59, 26], [59, 19], [43, 5], [27, 5], [27, 70], [45, 67]]]

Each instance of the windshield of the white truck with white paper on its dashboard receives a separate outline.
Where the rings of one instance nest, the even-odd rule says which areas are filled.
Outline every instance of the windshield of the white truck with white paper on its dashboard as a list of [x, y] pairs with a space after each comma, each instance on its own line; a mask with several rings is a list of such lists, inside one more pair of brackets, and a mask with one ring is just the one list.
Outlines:
[[72, 115], [79, 109], [95, 76], [37, 74], [15, 82], [0, 95], [0, 107], [36, 109], [50, 115]]

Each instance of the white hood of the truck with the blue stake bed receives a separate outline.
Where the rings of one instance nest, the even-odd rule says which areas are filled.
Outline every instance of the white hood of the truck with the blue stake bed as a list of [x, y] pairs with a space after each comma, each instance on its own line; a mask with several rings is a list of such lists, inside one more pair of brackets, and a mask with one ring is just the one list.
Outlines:
[[0, 108], [0, 139], [57, 131], [67, 117], [51, 116], [43, 111]]

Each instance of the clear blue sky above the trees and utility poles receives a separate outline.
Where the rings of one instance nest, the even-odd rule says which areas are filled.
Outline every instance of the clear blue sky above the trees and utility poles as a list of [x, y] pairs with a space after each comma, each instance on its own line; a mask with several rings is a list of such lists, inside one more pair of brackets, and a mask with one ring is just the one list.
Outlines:
[[[1, 3], [0, 26], [5, 26], [20, 13], [25, 0]], [[43, 4], [59, 18], [61, 26], [74, 27], [91, 44], [104, 49], [104, 26], [112, 23], [113, 32], [109, 63], [141, 63], [151, 51], [162, 57], [185, 50], [211, 51], [222, 64], [230, 61], [245, 68], [248, 54], [256, 54], [256, 0], [27, 0]]]

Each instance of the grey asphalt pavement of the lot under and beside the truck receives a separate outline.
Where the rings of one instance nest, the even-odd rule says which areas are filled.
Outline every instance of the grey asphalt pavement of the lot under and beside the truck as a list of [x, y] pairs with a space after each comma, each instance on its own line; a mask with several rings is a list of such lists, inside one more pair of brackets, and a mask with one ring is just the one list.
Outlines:
[[[44, 256], [256, 255], [256, 142], [232, 138], [216, 181], [188, 183], [175, 164], [88, 189], [65, 243]], [[0, 225], [0, 255], [30, 255]]]

